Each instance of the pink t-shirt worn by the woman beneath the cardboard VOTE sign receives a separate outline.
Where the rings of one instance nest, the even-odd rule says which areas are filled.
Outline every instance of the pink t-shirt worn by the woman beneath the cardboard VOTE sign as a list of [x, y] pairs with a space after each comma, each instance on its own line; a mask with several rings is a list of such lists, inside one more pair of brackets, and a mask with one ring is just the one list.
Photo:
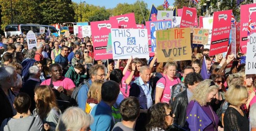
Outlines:
[[164, 77], [162, 77], [157, 81], [156, 87], [164, 89], [163, 94], [160, 98], [161, 102], [169, 103], [169, 100], [171, 99], [171, 87], [178, 83], [180, 83], [179, 78], [173, 77], [173, 81], [171, 81], [170, 79], [168, 79], [167, 75], [165, 75]]

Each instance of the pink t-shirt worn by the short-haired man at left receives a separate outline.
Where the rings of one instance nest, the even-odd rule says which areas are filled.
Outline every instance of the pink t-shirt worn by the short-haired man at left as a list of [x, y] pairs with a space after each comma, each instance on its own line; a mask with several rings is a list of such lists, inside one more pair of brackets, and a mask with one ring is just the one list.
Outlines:
[[[50, 83], [51, 83], [51, 79], [47, 79], [43, 81], [40, 85], [50, 85]], [[76, 87], [74, 82], [71, 79], [63, 76], [59, 81], [52, 81], [52, 84], [54, 85], [55, 89], [57, 89], [59, 86], [63, 86], [63, 88], [66, 90], [70, 90]]]

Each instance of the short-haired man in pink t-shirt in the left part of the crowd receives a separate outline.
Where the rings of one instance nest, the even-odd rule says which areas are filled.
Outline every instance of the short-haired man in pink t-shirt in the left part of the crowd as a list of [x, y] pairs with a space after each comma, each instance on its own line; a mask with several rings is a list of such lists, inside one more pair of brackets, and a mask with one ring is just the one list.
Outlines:
[[50, 74], [52, 75], [52, 78], [43, 81], [41, 83], [41, 85], [50, 86], [51, 81], [52, 81], [54, 89], [56, 89], [59, 92], [64, 92], [67, 95], [71, 96], [71, 94], [74, 91], [76, 86], [71, 79], [61, 76], [62, 75], [62, 67], [56, 63], [52, 64], [50, 66]]

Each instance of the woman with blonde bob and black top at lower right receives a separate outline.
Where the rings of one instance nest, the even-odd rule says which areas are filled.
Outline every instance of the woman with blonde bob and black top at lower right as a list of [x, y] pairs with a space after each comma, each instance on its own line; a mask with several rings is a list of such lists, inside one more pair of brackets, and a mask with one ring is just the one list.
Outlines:
[[223, 119], [225, 131], [249, 131], [249, 120], [241, 107], [248, 101], [247, 88], [241, 85], [232, 85], [225, 93], [225, 97], [226, 101], [230, 103]]

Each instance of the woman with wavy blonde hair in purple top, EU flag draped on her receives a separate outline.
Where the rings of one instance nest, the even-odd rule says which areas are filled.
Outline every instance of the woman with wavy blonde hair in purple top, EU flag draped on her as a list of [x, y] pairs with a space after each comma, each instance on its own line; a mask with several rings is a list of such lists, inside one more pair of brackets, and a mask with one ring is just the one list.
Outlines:
[[[187, 107], [187, 124], [188, 128], [192, 128], [194, 125], [199, 125], [199, 128], [202, 130], [197, 131], [218, 131], [223, 130], [223, 128], [218, 127], [219, 118], [217, 114], [213, 111], [213, 108], [210, 106], [209, 102], [215, 97], [216, 93], [218, 92], [219, 86], [216, 85], [212, 80], [204, 80], [198, 84], [198, 86], [194, 89], [193, 96], [191, 97], [191, 101]], [[194, 105], [199, 105], [197, 113], [194, 111]], [[204, 113], [202, 113], [204, 111]], [[189, 121], [190, 117], [196, 115], [199, 120], [203, 123], [201, 125], [201, 121], [198, 123], [195, 121]], [[204, 118], [208, 119], [208, 123], [206, 124], [206, 119], [203, 118], [202, 114], [204, 114]], [[199, 117], [200, 115], [200, 117]], [[205, 126], [204, 128], [202, 128]], [[194, 128], [193, 128], [194, 129]], [[191, 131], [193, 129], [190, 129]]]

